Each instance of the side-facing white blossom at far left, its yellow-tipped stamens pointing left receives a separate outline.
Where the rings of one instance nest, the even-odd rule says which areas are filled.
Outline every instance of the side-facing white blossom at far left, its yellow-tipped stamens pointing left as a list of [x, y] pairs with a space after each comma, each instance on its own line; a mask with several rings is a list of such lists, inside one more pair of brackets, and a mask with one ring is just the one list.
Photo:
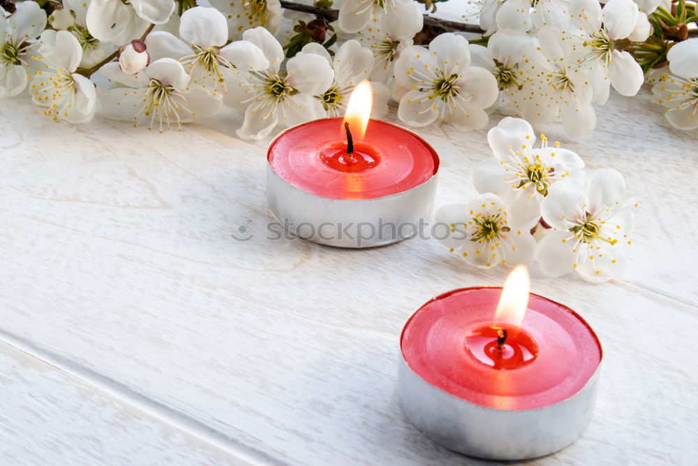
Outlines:
[[82, 59], [77, 38], [68, 31], [47, 29], [41, 34], [38, 57], [42, 67], [34, 72], [31, 94], [34, 103], [46, 107], [54, 120], [84, 123], [92, 119], [97, 103], [94, 83], [75, 73]]

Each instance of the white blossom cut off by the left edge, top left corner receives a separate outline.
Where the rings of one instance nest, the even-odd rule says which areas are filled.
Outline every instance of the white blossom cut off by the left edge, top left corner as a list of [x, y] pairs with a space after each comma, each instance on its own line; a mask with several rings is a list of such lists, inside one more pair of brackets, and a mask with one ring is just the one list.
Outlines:
[[27, 87], [31, 56], [38, 48], [30, 43], [46, 26], [46, 13], [35, 1], [17, 3], [7, 15], [0, 8], [0, 97], [20, 94]]

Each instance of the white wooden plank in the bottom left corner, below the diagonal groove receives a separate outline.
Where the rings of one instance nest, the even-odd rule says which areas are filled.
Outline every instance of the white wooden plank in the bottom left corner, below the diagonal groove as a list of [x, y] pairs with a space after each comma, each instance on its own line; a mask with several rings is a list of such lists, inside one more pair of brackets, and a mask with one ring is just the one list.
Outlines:
[[252, 464], [0, 343], [0, 464]]

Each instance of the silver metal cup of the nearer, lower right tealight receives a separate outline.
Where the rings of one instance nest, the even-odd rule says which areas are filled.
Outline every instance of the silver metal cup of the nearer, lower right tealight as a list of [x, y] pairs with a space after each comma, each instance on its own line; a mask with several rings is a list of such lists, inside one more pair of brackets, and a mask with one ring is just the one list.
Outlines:
[[419, 377], [401, 351], [398, 394], [417, 430], [447, 449], [490, 460], [526, 460], [572, 444], [593, 415], [601, 366], [581, 390], [554, 405], [506, 410], [477, 405]]

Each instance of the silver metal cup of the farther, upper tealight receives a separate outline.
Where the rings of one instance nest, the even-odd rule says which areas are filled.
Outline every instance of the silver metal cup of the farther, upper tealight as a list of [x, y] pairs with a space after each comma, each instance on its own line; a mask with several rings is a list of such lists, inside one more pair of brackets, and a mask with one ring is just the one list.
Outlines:
[[[277, 136], [269, 145], [269, 150], [293, 129], [287, 129]], [[403, 131], [424, 143], [433, 154], [435, 170], [438, 170], [438, 156], [431, 146], [415, 133], [406, 129]], [[298, 238], [334, 247], [383, 246], [416, 235], [424, 219], [431, 216], [436, 182], [437, 174], [434, 173], [426, 182], [390, 196], [372, 199], [324, 198], [283, 180], [274, 171], [267, 156], [267, 205], [276, 220]]]

